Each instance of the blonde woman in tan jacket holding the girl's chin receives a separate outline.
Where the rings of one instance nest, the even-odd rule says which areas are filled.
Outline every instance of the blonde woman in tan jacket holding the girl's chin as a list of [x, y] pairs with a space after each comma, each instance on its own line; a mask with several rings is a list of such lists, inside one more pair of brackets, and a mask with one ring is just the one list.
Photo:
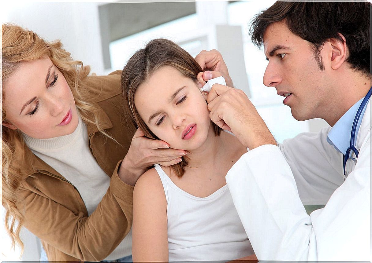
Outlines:
[[51, 261], [130, 261], [134, 184], [185, 151], [126, 121], [120, 71], [89, 71], [60, 41], [2, 25], [5, 226], [20, 246], [28, 228]]

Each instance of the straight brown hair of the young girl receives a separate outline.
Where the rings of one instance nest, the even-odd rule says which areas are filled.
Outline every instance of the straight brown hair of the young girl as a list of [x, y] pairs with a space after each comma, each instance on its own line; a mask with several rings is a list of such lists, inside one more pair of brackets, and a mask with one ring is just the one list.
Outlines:
[[[124, 66], [121, 75], [121, 88], [124, 94], [124, 107], [126, 112], [131, 113], [130, 117], [136, 128], [140, 128], [146, 137], [160, 140], [142, 120], [137, 108], [134, 105], [134, 95], [137, 88], [147, 81], [155, 71], [163, 66], [171, 66], [177, 69], [183, 76], [198, 83], [197, 75], [203, 69], [195, 59], [176, 43], [168, 39], [154, 39], [147, 43], [144, 49], [134, 53]], [[207, 107], [207, 105], [205, 105]], [[216, 136], [221, 133], [221, 128], [213, 123]], [[182, 161], [172, 165], [171, 170], [181, 178], [187, 166], [186, 156]]]

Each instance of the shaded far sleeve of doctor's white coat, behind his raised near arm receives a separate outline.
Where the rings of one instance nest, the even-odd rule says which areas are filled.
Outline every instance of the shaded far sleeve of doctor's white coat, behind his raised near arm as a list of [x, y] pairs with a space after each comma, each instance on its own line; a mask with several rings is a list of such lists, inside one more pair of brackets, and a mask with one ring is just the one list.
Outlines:
[[279, 144], [304, 205], [325, 205], [343, 183], [343, 155], [327, 142], [331, 127], [301, 133]]

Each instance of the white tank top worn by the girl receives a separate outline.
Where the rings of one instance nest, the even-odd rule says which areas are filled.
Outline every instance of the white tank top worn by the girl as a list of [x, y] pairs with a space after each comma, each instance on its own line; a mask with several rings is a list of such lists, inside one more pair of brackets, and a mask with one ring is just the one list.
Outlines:
[[227, 185], [195, 197], [155, 165], [167, 199], [169, 261], [229, 261], [253, 254]]

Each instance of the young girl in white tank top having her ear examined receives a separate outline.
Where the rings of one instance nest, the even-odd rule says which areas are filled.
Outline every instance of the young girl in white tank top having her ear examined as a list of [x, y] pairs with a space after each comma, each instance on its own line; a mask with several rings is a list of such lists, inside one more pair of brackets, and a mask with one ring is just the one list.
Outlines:
[[247, 152], [211, 122], [202, 69], [185, 50], [155, 39], [122, 72], [125, 109], [145, 136], [186, 150], [155, 165], [133, 197], [134, 261], [233, 260], [253, 253], [225, 175]]

